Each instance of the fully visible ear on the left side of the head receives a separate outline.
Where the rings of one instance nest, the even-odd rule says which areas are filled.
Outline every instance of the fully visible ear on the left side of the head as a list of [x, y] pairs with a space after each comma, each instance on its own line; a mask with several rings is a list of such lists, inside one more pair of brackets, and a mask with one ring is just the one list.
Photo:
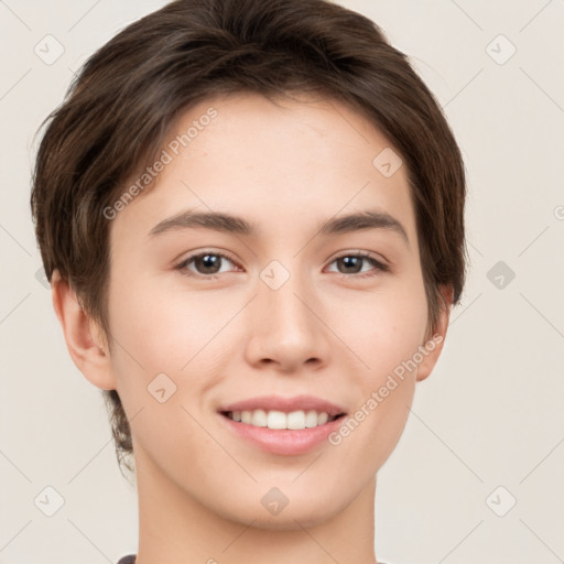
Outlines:
[[58, 270], [53, 272], [51, 279], [51, 294], [74, 364], [97, 388], [115, 390], [117, 387], [104, 332], [84, 312], [75, 292], [61, 278]]

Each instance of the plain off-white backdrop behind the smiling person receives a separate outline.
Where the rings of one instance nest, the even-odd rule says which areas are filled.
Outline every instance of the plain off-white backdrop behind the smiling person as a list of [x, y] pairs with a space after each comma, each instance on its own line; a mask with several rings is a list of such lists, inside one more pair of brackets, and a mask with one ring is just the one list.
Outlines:
[[[119, 471], [101, 392], [67, 354], [29, 197], [35, 131], [73, 74], [164, 3], [0, 1], [0, 563], [137, 552], [137, 494]], [[339, 3], [411, 57], [468, 173], [468, 282], [379, 471], [377, 555], [563, 562], [564, 2]], [[45, 42], [53, 57], [64, 50], [56, 61], [45, 61]], [[45, 496], [61, 496], [52, 517]]]

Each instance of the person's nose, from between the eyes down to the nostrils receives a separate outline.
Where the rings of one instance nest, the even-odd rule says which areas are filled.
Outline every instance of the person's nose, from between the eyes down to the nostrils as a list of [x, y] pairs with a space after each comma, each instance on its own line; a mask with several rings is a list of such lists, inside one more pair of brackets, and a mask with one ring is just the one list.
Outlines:
[[249, 304], [247, 361], [282, 373], [326, 366], [332, 337], [327, 304], [296, 274], [273, 288], [259, 280]]

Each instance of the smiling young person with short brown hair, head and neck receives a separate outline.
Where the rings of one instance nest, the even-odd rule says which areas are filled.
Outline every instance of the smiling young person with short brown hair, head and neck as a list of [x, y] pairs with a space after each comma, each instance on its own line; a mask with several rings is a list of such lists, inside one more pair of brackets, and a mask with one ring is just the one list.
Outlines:
[[463, 160], [406, 57], [324, 0], [177, 0], [50, 118], [32, 212], [135, 473], [120, 563], [376, 563], [465, 280]]

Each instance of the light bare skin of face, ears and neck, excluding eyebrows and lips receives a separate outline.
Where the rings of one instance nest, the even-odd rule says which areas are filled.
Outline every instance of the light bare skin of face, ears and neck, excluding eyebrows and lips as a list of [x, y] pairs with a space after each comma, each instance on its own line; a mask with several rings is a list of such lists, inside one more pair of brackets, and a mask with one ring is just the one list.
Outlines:
[[[376, 563], [376, 473], [442, 343], [336, 446], [264, 453], [229, 432], [216, 410], [256, 395], [307, 393], [354, 414], [425, 345], [405, 166], [384, 177], [372, 160], [390, 142], [335, 100], [214, 98], [187, 111], [171, 138], [210, 106], [217, 118], [111, 220], [111, 348], [66, 282], [53, 279], [74, 362], [94, 386], [117, 389], [133, 417], [137, 562]], [[322, 220], [375, 207], [403, 225], [409, 246], [390, 229], [316, 235]], [[241, 216], [259, 235], [197, 227], [149, 237], [186, 208]], [[204, 251], [229, 254], [217, 259], [215, 279], [195, 261], [175, 269]], [[336, 260], [358, 251], [390, 271], [365, 261], [356, 273]], [[278, 290], [259, 278], [272, 260], [290, 273]], [[452, 289], [443, 295], [451, 303]], [[443, 310], [435, 327], [443, 338], [448, 316]], [[147, 390], [162, 372], [176, 386], [164, 403]], [[276, 516], [260, 502], [272, 487], [289, 499]]]

